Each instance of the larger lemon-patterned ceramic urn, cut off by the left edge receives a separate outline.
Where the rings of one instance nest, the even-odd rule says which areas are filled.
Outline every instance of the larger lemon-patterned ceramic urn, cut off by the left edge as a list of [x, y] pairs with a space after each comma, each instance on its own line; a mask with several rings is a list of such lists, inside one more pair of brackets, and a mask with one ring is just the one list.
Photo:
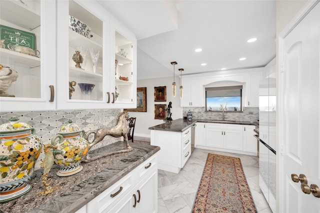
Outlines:
[[11, 117], [9, 123], [0, 125], [0, 202], [7, 202], [31, 189], [35, 161], [42, 142], [34, 135], [35, 129]]

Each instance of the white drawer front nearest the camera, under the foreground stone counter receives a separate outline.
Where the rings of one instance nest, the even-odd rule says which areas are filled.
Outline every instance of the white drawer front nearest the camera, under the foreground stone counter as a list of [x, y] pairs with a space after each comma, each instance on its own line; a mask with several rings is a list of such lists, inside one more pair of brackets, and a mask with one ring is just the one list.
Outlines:
[[111, 185], [108, 189], [100, 193], [93, 200], [87, 203], [90, 212], [103, 212], [116, 202], [118, 202], [128, 191], [135, 185], [134, 174], [136, 172], [130, 172], [121, 178], [119, 181]]

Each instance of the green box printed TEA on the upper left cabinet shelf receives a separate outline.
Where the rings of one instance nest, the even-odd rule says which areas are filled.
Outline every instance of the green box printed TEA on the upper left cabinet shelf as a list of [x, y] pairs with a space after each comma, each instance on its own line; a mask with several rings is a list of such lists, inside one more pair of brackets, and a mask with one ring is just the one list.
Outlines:
[[8, 49], [8, 44], [17, 44], [19, 46], [29, 47], [35, 50], [35, 34], [20, 29], [15, 29], [9, 26], [0, 24], [0, 39], [5, 39], [5, 48]]

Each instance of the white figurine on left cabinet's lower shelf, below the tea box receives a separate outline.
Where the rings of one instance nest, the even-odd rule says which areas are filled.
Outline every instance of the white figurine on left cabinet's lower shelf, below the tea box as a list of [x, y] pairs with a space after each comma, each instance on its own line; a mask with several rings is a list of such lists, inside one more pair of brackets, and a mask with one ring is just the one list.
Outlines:
[[7, 94], [6, 90], [17, 77], [18, 73], [14, 69], [0, 64], [0, 96], [14, 97], [13, 94]]

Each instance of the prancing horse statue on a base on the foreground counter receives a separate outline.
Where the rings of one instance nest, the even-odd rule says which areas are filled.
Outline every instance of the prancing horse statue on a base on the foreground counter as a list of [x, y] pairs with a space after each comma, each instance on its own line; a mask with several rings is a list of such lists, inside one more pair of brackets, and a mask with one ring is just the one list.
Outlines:
[[[106, 135], [110, 135], [110, 136], [113, 136], [113, 137], [121, 137], [123, 136], [124, 138], [124, 142], [125, 142], [125, 146], [126, 148], [125, 149], [122, 149], [122, 150], [118, 150], [118, 151], [113, 151], [113, 152], [109, 152], [109, 153], [105, 153], [104, 155], [99, 155], [99, 156], [96, 156], [94, 157], [94, 159], [97, 159], [99, 157], [104, 157], [104, 156], [107, 156], [107, 155], [111, 155], [111, 154], [117, 154], [117, 153], [123, 153], [123, 152], [129, 152], [129, 151], [132, 151], [132, 147], [129, 145], [129, 142], [128, 142], [128, 131], [129, 131], [129, 125], [128, 125], [128, 122], [127, 122], [127, 118], [129, 118], [129, 114], [128, 112], [126, 111], [123, 111], [121, 113], [118, 114], [117, 116], [117, 123], [115, 126], [111, 127], [111, 128], [98, 128], [96, 130], [90, 130], [90, 131], [87, 131], [84, 135], [84, 138], [88, 140], [88, 137], [90, 134], [94, 134], [94, 138], [92, 140], [92, 142], [89, 141], [89, 150], [90, 148], [95, 145], [96, 143], [100, 142]], [[86, 155], [85, 159], [86, 160], [83, 160], [84, 162], [88, 162], [88, 161], [91, 161], [93, 159], [90, 159], [91, 157], [89, 156], [89, 154]]]

